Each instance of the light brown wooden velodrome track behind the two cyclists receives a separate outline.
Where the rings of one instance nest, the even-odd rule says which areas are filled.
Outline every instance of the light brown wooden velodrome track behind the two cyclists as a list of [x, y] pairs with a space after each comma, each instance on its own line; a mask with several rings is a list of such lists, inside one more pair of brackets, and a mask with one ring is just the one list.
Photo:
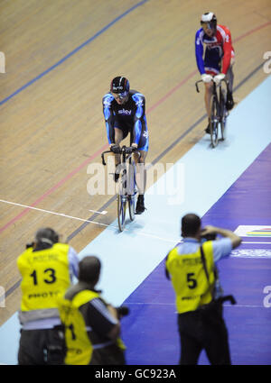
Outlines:
[[[200, 15], [212, 11], [231, 30], [238, 87], [234, 96], [241, 100], [266, 77], [260, 66], [270, 50], [271, 4], [2, 0], [0, 7], [0, 50], [6, 60], [0, 90], [3, 324], [20, 302], [16, 258], [38, 228], [51, 226], [80, 251], [105, 226], [71, 217], [106, 224], [116, 219], [116, 202], [107, 204], [112, 196], [87, 192], [88, 165], [100, 162], [100, 152], [107, 148], [101, 98], [110, 80], [124, 75], [145, 94], [147, 162], [175, 162], [206, 127], [203, 93], [197, 95], [194, 88], [199, 79], [194, 34]], [[89, 212], [101, 208], [106, 215]]]

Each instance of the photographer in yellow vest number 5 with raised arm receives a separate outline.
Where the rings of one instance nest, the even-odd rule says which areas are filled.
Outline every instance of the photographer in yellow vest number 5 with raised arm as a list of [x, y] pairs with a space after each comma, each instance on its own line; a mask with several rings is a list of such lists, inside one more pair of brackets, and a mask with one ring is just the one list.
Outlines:
[[[216, 235], [222, 239], [215, 240]], [[210, 364], [229, 365], [228, 331], [222, 316], [222, 304], [233, 296], [222, 296], [216, 263], [229, 257], [241, 238], [218, 227], [201, 230], [196, 214], [182, 217], [182, 238], [166, 257], [166, 276], [176, 295], [182, 365], [195, 365], [202, 350]], [[210, 241], [212, 239], [212, 241]]]

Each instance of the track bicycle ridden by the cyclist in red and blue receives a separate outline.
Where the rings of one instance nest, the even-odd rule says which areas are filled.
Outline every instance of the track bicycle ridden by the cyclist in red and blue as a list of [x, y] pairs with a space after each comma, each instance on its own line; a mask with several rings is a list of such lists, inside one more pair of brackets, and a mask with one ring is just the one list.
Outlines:
[[[198, 84], [203, 82], [199, 80], [195, 83], [197, 92], [200, 93]], [[225, 83], [225, 87], [222, 87], [222, 82]], [[210, 96], [210, 145], [215, 148], [219, 143], [219, 126], [220, 126], [220, 141], [225, 140], [225, 128], [226, 119], [229, 114], [226, 108], [226, 96], [229, 92], [229, 81], [225, 78], [217, 85], [212, 79], [213, 87], [212, 94]], [[219, 90], [218, 90], [219, 88]]]

